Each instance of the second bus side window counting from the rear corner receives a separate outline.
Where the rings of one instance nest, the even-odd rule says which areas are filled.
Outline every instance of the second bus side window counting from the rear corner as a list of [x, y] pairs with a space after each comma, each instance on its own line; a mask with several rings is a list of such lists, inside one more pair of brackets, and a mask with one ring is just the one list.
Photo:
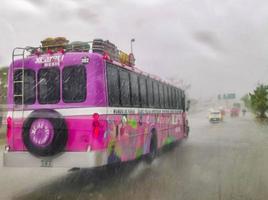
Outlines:
[[120, 102], [121, 106], [130, 106], [129, 74], [125, 70], [119, 70]]

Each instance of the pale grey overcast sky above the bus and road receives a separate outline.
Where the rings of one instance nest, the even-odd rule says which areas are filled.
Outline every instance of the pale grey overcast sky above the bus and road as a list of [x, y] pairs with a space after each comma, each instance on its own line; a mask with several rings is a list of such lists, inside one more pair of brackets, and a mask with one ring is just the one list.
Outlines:
[[191, 84], [195, 98], [268, 83], [266, 0], [2, 0], [0, 66], [50, 36], [109, 39], [137, 66]]

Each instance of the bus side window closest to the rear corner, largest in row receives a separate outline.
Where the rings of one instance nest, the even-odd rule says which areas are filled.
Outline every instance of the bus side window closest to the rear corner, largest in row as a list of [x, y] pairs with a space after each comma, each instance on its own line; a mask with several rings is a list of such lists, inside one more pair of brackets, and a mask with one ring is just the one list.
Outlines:
[[119, 93], [119, 79], [118, 70], [107, 63], [107, 84], [108, 84], [108, 98], [110, 106], [120, 105], [120, 93]]

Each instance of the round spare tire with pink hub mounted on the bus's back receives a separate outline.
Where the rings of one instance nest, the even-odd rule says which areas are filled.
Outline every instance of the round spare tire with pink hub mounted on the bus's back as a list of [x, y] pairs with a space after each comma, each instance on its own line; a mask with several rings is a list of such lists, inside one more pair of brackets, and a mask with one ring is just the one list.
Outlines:
[[23, 142], [35, 156], [54, 156], [62, 152], [68, 139], [67, 125], [55, 110], [36, 110], [23, 124]]

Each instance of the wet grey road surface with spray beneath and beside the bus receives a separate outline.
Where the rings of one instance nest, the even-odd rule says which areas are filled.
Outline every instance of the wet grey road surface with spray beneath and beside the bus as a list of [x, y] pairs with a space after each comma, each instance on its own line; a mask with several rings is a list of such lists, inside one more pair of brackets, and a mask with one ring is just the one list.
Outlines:
[[0, 199], [266, 200], [268, 123], [252, 117], [209, 124], [191, 116], [191, 135], [151, 166], [107, 170], [0, 168]]

